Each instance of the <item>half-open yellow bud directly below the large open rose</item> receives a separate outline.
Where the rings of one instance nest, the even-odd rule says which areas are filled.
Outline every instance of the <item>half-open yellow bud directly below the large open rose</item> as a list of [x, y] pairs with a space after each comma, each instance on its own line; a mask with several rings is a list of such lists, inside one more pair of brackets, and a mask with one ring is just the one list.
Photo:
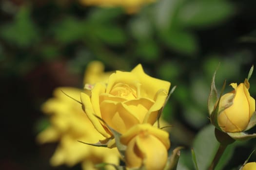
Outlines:
[[128, 168], [139, 168], [144, 164], [146, 170], [163, 170], [170, 148], [169, 134], [150, 124], [138, 124], [120, 137], [127, 146], [125, 164]]

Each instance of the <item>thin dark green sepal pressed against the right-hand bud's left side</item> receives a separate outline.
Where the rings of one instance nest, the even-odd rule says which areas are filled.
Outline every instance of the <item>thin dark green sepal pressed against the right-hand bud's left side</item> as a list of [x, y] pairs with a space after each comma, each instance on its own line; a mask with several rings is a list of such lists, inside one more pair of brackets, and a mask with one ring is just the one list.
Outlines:
[[[220, 92], [220, 97], [219, 97], [219, 99], [217, 100], [217, 105], [216, 105], [216, 107], [214, 107], [214, 110], [213, 110], [213, 112], [212, 112], [211, 115], [210, 115], [211, 123], [212, 123], [217, 129], [219, 129], [219, 130], [221, 130], [221, 128], [220, 128], [219, 125], [218, 125], [218, 114], [219, 114], [222, 110], [224, 110], [224, 109], [226, 109], [226, 108], [228, 108], [229, 106], [232, 105], [232, 103], [230, 103], [230, 104], [226, 105], [226, 107], [223, 108], [221, 111], [219, 111], [219, 101], [220, 101], [220, 98], [221, 98], [221, 96], [222, 96], [222, 94], [223, 94], [223, 91], [224, 91], [224, 89], [225, 89], [225, 86], [226, 86], [226, 80], [224, 81], [224, 83], [223, 83], [223, 85], [222, 85], [222, 89], [221, 89], [221, 92]], [[221, 130], [221, 131], [222, 131], [222, 130]]]

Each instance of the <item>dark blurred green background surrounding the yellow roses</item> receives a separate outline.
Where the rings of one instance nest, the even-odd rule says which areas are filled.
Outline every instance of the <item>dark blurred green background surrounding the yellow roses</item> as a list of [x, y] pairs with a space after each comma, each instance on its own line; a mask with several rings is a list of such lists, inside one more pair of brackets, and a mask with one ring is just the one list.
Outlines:
[[[39, 145], [35, 137], [49, 123], [41, 104], [54, 88], [82, 88], [86, 66], [98, 60], [106, 71], [130, 71], [141, 63], [149, 75], [177, 85], [163, 118], [174, 126], [172, 149], [185, 147], [180, 170], [193, 170], [190, 148], [205, 147], [197, 149], [200, 159], [214, 145], [197, 136], [209, 129], [207, 97], [215, 69], [220, 63], [220, 89], [225, 79], [243, 82], [256, 62], [255, 10], [255, 0], [156, 0], [140, 8], [1, 0], [0, 169], [80, 170], [51, 167], [57, 143]], [[250, 83], [256, 97], [256, 74]], [[219, 169], [236, 170], [255, 148], [255, 139], [235, 142]]]

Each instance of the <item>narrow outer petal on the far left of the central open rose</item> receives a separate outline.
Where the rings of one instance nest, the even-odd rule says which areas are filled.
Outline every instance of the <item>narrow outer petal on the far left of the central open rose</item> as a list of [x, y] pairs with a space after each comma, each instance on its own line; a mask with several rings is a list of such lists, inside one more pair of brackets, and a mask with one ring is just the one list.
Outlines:
[[95, 117], [94, 109], [91, 103], [91, 100], [88, 95], [81, 93], [81, 102], [84, 105], [84, 111], [88, 118], [93, 123], [94, 127], [97, 129], [97, 131], [102, 134], [105, 137], [110, 137], [110, 135], [106, 132], [106, 130], [103, 128], [102, 124], [99, 122], [98, 118]]

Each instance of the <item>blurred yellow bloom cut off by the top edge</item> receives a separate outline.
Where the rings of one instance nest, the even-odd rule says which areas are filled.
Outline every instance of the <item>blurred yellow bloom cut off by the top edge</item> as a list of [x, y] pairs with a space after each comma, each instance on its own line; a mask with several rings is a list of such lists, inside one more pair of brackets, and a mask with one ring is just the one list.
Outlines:
[[156, 0], [80, 0], [84, 5], [97, 5], [102, 7], [124, 7], [128, 13], [135, 13], [147, 3]]

